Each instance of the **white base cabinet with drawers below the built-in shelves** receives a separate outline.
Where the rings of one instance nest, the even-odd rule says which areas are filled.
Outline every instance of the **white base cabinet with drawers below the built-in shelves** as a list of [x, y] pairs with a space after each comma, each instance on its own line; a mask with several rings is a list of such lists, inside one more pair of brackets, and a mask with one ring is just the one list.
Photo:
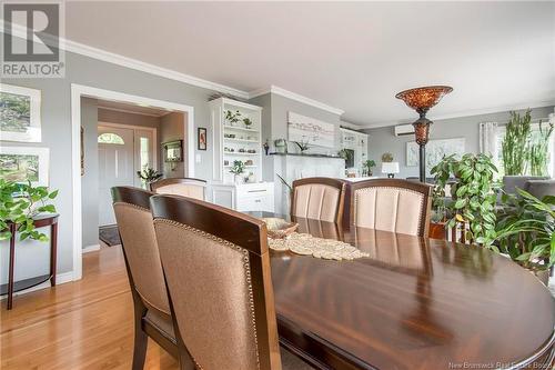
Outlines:
[[274, 212], [274, 183], [213, 183], [212, 202], [240, 212]]

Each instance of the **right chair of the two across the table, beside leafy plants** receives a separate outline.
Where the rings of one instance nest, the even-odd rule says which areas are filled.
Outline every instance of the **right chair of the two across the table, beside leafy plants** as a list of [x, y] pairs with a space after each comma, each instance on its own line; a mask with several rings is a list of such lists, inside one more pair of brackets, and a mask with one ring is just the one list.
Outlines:
[[401, 179], [371, 179], [347, 187], [349, 223], [423, 237], [428, 234], [432, 186]]

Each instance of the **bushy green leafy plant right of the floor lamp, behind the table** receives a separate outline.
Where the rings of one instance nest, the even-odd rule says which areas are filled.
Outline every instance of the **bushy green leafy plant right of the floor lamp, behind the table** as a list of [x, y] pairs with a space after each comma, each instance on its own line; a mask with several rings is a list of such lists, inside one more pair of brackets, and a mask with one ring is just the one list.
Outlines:
[[[495, 203], [500, 184], [493, 181], [497, 168], [486, 154], [464, 154], [461, 160], [455, 156], [445, 157], [432, 169], [435, 176], [434, 207], [444, 212], [447, 228], [457, 222], [467, 224], [465, 239], [470, 242], [492, 246], [495, 239]], [[453, 202], [445, 204], [445, 187], [450, 179]]]

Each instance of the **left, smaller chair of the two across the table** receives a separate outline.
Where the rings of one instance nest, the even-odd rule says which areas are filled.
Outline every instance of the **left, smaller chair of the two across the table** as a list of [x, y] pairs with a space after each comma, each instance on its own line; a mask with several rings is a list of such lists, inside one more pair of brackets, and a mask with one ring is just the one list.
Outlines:
[[345, 182], [332, 178], [293, 181], [291, 216], [341, 223]]

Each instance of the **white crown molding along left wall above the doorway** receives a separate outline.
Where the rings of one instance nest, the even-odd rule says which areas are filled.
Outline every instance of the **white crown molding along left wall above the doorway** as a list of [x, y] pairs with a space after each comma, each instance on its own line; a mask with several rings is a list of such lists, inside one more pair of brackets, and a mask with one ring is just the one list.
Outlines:
[[[4, 26], [4, 21], [0, 20], [0, 29], [1, 30], [4, 29], [3, 26]], [[12, 36], [23, 38], [23, 39], [27, 37], [27, 28], [26, 27], [12, 23], [9, 29], [12, 31], [11, 32]], [[199, 88], [204, 88], [208, 90], [228, 93], [228, 94], [235, 96], [235, 97], [239, 97], [242, 99], [249, 99], [249, 93], [246, 91], [234, 89], [234, 88], [231, 88], [231, 87], [225, 86], [225, 84], [220, 84], [216, 82], [208, 81], [208, 80], [204, 80], [204, 79], [191, 76], [191, 74], [176, 72], [174, 70], [158, 67], [158, 66], [147, 63], [147, 62], [133, 59], [133, 58], [123, 57], [121, 54], [117, 54], [117, 53], [105, 51], [102, 49], [89, 47], [84, 43], [71, 41], [71, 40], [68, 40], [65, 38], [60, 38], [60, 49], [69, 51], [69, 52], [73, 52], [77, 54], [81, 54], [84, 57], [93, 58], [93, 59], [97, 59], [100, 61], [104, 61], [104, 62], [127, 67], [130, 69], [134, 69], [134, 70], [141, 71], [141, 72], [147, 72], [150, 74], [163, 77], [163, 78], [167, 78], [170, 80], [184, 82], [184, 83], [195, 86]]]

